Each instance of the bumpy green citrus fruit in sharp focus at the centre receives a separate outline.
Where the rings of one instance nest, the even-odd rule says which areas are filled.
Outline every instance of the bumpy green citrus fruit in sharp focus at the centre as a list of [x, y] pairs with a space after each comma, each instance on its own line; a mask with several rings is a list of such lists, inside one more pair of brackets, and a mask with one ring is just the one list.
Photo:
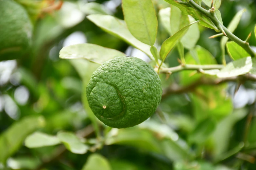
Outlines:
[[100, 121], [113, 128], [127, 128], [142, 123], [156, 111], [162, 83], [143, 60], [116, 57], [95, 70], [86, 95]]

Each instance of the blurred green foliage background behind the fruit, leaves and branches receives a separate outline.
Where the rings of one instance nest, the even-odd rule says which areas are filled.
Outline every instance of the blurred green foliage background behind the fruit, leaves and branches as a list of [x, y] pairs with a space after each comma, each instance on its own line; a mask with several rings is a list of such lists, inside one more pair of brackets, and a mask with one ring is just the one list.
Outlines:
[[[83, 87], [97, 65], [60, 59], [62, 47], [87, 42], [149, 60], [143, 52], [86, 18], [103, 13], [123, 19], [120, 0], [89, 2], [98, 4], [64, 1], [60, 10], [43, 14], [35, 22], [31, 50], [21, 59], [0, 62], [0, 169], [256, 169], [256, 86], [251, 81], [241, 85], [236, 94], [235, 82], [200, 87], [203, 97], [198, 89], [172, 92], [164, 96], [150, 120], [133, 128], [111, 129], [100, 122], [95, 126], [95, 118], [86, 111]], [[162, 0], [153, 2], [156, 11], [170, 6]], [[234, 34], [246, 39], [254, 30], [256, 3], [222, 0], [219, 10], [224, 25], [228, 25], [243, 8], [247, 11]], [[157, 38], [162, 44], [169, 35], [159, 16], [158, 21]], [[220, 38], [209, 39], [215, 31], [198, 27], [197, 45], [209, 50], [221, 64]], [[256, 46], [254, 36], [249, 43]], [[169, 67], [179, 65], [178, 56], [174, 49], [165, 63]], [[228, 54], [226, 60], [231, 61]], [[186, 74], [175, 73], [167, 80], [161, 75], [163, 90], [173, 84], [190, 83]], [[228, 92], [224, 92], [225, 100], [223, 89]], [[27, 148], [24, 140], [35, 131], [54, 136], [37, 133], [39, 137], [26, 141], [26, 145], [43, 146], [44, 141], [51, 141], [56, 146]]]

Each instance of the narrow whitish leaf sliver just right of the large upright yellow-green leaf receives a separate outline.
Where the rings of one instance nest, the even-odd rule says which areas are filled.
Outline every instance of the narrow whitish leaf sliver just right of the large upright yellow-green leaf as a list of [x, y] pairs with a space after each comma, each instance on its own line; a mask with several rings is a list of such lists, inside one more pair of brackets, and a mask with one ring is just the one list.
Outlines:
[[158, 15], [165, 30], [168, 32], [169, 35], [172, 35], [170, 23], [171, 8], [168, 7], [160, 9]]

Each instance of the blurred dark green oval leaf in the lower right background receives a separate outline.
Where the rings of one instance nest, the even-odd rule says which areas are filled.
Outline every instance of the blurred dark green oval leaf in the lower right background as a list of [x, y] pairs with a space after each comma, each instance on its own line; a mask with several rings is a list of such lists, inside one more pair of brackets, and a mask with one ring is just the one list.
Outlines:
[[202, 144], [213, 133], [216, 122], [213, 119], [206, 119], [200, 121], [194, 131], [189, 135], [188, 140], [191, 143]]

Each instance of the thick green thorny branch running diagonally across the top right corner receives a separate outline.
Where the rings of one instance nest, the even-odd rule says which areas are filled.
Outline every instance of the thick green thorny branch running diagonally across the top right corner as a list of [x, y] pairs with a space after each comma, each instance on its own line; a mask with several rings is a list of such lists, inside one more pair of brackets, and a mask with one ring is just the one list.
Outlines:
[[222, 31], [222, 33], [225, 35], [227, 35], [227, 37], [229, 39], [231, 39], [232, 41], [236, 42], [238, 45], [240, 45], [243, 49], [245, 49], [250, 55], [251, 57], [255, 57], [255, 52], [254, 50], [252, 50], [252, 48], [249, 46], [249, 43], [247, 43], [246, 41], [241, 40], [240, 38], [238, 38], [237, 36], [235, 36], [233, 33], [231, 33], [218, 19], [217, 17], [214, 15], [213, 12], [210, 12], [206, 9], [204, 9], [203, 7], [199, 6], [198, 4], [196, 4], [193, 0], [187, 0], [188, 4], [195, 8], [197, 11], [201, 12], [203, 15], [207, 16], [210, 18], [210, 20], [214, 23], [214, 25]]

